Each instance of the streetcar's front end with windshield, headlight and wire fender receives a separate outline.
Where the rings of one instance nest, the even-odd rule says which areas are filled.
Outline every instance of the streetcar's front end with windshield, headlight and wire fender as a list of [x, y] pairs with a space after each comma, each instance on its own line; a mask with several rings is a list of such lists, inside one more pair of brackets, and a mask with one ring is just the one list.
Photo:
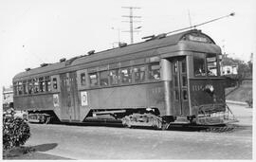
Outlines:
[[220, 125], [236, 122], [226, 104], [226, 79], [221, 76], [220, 56], [215, 53], [193, 53], [190, 82], [191, 121], [198, 125]]

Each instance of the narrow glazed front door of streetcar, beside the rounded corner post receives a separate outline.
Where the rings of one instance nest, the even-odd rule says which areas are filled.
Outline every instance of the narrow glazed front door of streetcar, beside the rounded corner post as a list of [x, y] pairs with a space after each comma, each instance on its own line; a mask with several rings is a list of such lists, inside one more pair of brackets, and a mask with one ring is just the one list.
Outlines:
[[173, 112], [174, 115], [187, 116], [190, 114], [188, 97], [188, 78], [186, 57], [176, 57], [172, 59], [173, 85]]

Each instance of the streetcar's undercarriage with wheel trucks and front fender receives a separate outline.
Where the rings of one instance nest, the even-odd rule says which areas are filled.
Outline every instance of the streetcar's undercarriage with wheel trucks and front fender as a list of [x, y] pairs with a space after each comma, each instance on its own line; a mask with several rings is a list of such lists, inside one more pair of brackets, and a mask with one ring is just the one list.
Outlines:
[[[167, 130], [172, 127], [182, 126], [191, 128], [216, 128], [223, 127], [229, 123], [237, 122], [226, 105], [225, 109], [215, 105], [215, 108], [210, 108], [210, 105], [202, 105], [198, 107], [198, 115], [193, 116], [159, 116], [157, 108], [137, 108], [137, 109], [92, 109], [88, 115], [82, 120], [87, 119], [99, 120], [104, 119], [105, 122], [119, 120], [125, 127], [148, 127], [154, 129]], [[53, 111], [28, 111], [28, 122], [49, 123], [56, 121], [58, 118]], [[220, 127], [220, 128], [221, 128]], [[224, 127], [223, 127], [224, 128]], [[226, 128], [225, 128], [226, 129]], [[225, 130], [221, 129], [221, 130]]]

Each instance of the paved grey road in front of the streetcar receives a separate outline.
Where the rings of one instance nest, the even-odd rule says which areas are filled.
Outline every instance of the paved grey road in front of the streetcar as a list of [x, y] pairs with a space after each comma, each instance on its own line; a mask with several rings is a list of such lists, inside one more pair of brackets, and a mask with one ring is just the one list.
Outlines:
[[27, 146], [72, 159], [251, 159], [251, 124], [239, 124], [221, 134], [30, 124]]

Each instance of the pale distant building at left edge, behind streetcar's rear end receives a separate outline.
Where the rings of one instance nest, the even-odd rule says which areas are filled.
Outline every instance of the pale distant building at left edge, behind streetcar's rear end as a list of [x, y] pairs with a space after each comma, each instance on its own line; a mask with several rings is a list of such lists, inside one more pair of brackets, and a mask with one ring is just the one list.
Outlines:
[[13, 107], [13, 88], [3, 87], [3, 109], [4, 111]]

